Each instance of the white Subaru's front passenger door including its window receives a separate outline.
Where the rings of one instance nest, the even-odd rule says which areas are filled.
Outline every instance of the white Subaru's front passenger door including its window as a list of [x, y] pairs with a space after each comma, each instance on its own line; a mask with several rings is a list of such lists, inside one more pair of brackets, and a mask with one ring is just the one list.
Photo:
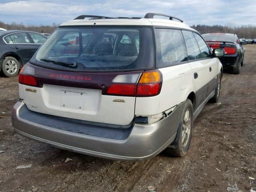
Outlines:
[[209, 82], [208, 91], [207, 91], [207, 96], [208, 96], [214, 91], [217, 84], [218, 63], [216, 58], [211, 58], [210, 49], [208, 48], [203, 38], [197, 33], [193, 33], [193, 34], [196, 38], [196, 41], [198, 43], [198, 46], [201, 52], [200, 58], [205, 59], [204, 62], [206, 62], [206, 66], [208, 67], [208, 72], [207, 72], [208, 74], [207, 80]]

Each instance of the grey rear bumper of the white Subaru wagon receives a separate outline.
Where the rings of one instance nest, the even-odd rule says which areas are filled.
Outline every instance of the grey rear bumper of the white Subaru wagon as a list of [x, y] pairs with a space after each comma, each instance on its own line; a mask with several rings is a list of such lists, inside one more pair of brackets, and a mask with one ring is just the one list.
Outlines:
[[44, 119], [40, 118], [44, 116], [28, 116], [24, 119], [19, 114], [22, 106], [26, 107], [22, 101], [14, 105], [12, 124], [16, 132], [26, 138], [91, 156], [118, 160], [146, 160], [159, 154], [175, 140], [183, 103], [170, 116], [155, 124], [134, 124], [125, 139], [92, 136], [39, 124], [37, 122], [43, 122]]

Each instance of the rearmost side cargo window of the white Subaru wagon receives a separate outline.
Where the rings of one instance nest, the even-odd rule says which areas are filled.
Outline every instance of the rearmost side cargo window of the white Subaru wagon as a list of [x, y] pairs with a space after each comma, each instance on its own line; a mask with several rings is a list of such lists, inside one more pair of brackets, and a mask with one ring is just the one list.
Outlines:
[[186, 46], [180, 30], [155, 29], [156, 65], [170, 66], [187, 60]]

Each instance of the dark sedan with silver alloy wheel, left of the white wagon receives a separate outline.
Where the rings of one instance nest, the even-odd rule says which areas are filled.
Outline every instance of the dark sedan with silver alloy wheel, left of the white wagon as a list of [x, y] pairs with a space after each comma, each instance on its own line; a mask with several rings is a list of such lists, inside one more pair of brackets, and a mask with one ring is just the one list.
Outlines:
[[46, 40], [40, 33], [23, 30], [0, 31], [0, 71], [4, 76], [18, 74]]

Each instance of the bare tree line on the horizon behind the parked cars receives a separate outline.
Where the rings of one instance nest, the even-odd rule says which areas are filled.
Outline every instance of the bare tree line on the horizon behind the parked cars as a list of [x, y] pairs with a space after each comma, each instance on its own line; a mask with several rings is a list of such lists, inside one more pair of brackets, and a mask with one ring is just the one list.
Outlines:
[[[52, 33], [58, 27], [58, 24], [53, 23], [50, 25], [24, 25], [23, 23], [11, 23], [5, 24], [0, 22], [0, 28], [7, 30], [31, 30], [40, 33]], [[193, 25], [191, 28], [194, 28], [200, 34], [204, 33], [234, 33], [237, 34], [239, 38], [256, 38], [256, 26], [246, 25], [246, 26], [235, 26], [234, 24], [222, 25]]]

